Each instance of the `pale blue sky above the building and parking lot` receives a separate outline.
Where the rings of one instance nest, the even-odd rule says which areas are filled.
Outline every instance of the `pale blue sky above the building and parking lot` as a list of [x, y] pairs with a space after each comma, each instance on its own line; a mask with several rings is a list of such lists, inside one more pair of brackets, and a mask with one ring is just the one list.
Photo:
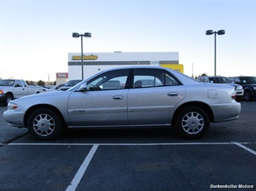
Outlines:
[[[179, 52], [184, 73], [256, 76], [255, 0], [0, 0], [0, 78], [55, 80], [84, 52]], [[193, 66], [192, 64], [193, 63]]]

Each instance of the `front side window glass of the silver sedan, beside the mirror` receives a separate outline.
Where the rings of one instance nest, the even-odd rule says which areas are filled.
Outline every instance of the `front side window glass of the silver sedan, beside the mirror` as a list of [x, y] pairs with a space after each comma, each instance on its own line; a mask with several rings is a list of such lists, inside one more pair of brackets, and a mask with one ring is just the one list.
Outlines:
[[87, 83], [88, 90], [118, 90], [124, 89], [129, 70], [114, 70], [103, 73]]

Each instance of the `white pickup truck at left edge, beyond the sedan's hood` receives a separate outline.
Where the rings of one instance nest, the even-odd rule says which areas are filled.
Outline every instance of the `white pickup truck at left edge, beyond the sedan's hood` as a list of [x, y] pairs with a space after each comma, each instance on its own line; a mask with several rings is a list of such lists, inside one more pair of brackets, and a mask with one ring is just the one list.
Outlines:
[[7, 106], [13, 99], [42, 92], [43, 87], [27, 85], [25, 80], [0, 80], [0, 103], [4, 103], [4, 106]]

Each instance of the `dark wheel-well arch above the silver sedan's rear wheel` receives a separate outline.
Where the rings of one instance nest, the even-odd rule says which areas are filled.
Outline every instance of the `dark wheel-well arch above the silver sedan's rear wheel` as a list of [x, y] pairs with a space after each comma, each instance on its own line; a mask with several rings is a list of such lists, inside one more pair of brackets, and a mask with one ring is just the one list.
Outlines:
[[208, 106], [206, 103], [203, 102], [199, 102], [199, 101], [193, 101], [193, 102], [189, 102], [189, 103], [184, 103], [181, 106], [179, 106], [179, 108], [177, 108], [177, 110], [175, 111], [173, 117], [172, 117], [172, 124], [175, 124], [175, 119], [177, 118], [177, 115], [180, 113], [180, 111], [182, 111], [183, 108], [187, 108], [190, 106], [195, 106], [198, 108], [203, 108], [204, 111], [206, 111], [206, 113], [208, 114], [210, 121], [213, 122], [214, 121], [214, 115], [213, 115], [213, 111], [211, 110], [211, 107]]

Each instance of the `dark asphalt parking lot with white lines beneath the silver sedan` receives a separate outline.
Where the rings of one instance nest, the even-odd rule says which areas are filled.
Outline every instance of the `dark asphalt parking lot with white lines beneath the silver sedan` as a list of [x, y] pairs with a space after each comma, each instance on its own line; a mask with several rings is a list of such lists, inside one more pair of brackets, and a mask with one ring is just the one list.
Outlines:
[[206, 136], [172, 129], [69, 131], [35, 141], [9, 127], [0, 107], [0, 190], [253, 190], [256, 102], [236, 121], [211, 124]]

